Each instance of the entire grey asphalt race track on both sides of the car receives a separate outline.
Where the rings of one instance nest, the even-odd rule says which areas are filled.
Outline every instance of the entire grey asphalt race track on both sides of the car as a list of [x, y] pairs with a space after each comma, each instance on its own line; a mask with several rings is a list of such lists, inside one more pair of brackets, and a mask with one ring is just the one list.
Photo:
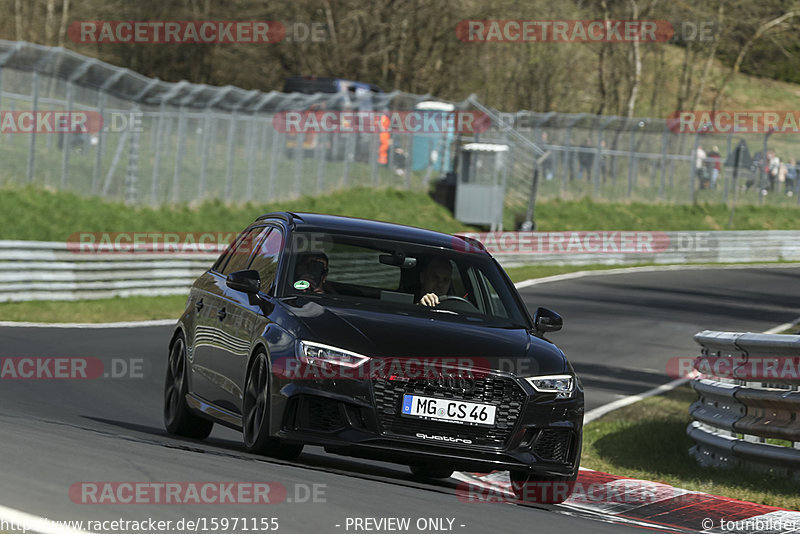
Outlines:
[[[763, 331], [793, 321], [800, 316], [797, 287], [800, 267], [754, 267], [590, 276], [522, 293], [532, 309], [547, 306], [563, 315], [564, 330], [552, 339], [581, 375], [591, 409], [669, 382], [666, 362], [695, 355], [692, 335], [699, 330]], [[565, 507], [463, 502], [453, 481], [419, 482], [403, 466], [320, 449], [307, 448], [296, 462], [258, 457], [243, 452], [237, 433], [220, 427], [204, 442], [169, 437], [161, 397], [170, 332], [0, 328], [3, 357], [89, 356], [102, 360], [106, 372], [124, 375], [0, 382], [0, 504], [61, 520], [274, 517], [278, 532], [311, 534], [364, 532], [348, 527], [347, 518], [370, 517], [411, 518], [408, 532], [645, 530]], [[74, 493], [71, 498], [73, 485], [90, 481], [270, 482], [282, 484], [287, 497], [269, 505], [93, 505]], [[420, 518], [453, 522], [416, 529]]]

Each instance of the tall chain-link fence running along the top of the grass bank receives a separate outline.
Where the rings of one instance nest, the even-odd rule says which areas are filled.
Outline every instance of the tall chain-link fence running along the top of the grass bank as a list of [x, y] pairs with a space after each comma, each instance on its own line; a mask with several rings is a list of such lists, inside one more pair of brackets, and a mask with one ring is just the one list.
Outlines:
[[[276, 127], [286, 111], [354, 109], [470, 110], [490, 122], [476, 133], [393, 131], [390, 137]], [[800, 201], [800, 180], [792, 181], [792, 173], [770, 181], [758, 165], [748, 165], [734, 180], [733, 168], [724, 165], [741, 140], [750, 153], [762, 151], [760, 135], [682, 134], [664, 119], [500, 113], [475, 97], [454, 103], [401, 92], [301, 94], [169, 83], [24, 42], [0, 41], [0, 110], [0, 186], [35, 184], [130, 204], [274, 202], [351, 187], [427, 190], [445, 176], [451, 183], [461, 176], [496, 184], [506, 208], [519, 212], [530, 202], [537, 161], [539, 199]], [[21, 114], [59, 110], [93, 113], [103, 127], [19, 128]], [[770, 148], [788, 161], [791, 141], [774, 136]], [[465, 159], [467, 144], [507, 147], [493, 149], [496, 172], [476, 174], [487, 154], [473, 149]], [[698, 146], [707, 154], [717, 147], [720, 155], [713, 187], [708, 162], [714, 160], [701, 161]]]

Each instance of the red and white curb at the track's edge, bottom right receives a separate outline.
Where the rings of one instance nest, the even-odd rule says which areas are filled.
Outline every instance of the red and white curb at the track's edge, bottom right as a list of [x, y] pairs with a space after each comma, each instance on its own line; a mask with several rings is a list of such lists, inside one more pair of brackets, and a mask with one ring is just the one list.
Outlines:
[[[464, 483], [461, 500], [515, 502], [506, 472], [455, 473], [453, 478]], [[590, 469], [580, 470], [572, 495], [560, 506], [679, 531], [800, 533], [800, 512]]]

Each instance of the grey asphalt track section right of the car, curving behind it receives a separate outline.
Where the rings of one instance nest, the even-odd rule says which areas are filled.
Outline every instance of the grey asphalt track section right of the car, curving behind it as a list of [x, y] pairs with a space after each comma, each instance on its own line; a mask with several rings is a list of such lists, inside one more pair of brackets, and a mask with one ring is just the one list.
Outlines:
[[668, 382], [667, 362], [696, 357], [701, 330], [763, 332], [800, 317], [800, 268], [680, 269], [532, 286], [528, 308], [552, 308], [550, 335], [586, 387], [591, 410]]

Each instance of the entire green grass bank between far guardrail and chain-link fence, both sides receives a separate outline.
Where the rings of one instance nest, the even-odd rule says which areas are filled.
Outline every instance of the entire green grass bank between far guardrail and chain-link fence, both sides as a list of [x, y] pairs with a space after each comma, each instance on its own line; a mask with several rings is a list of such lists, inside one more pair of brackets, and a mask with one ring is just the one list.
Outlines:
[[[257, 216], [275, 210], [312, 211], [379, 219], [445, 233], [474, 231], [420, 191], [356, 188], [319, 197], [266, 204], [132, 207], [54, 192], [40, 187], [0, 189], [0, 239], [64, 241], [78, 232], [237, 232]], [[506, 210], [506, 229], [519, 215]], [[537, 228], [562, 230], [723, 230], [729, 212], [721, 204], [671, 206], [604, 203], [588, 199], [541, 202]], [[731, 229], [800, 228], [800, 209], [740, 206]]]

